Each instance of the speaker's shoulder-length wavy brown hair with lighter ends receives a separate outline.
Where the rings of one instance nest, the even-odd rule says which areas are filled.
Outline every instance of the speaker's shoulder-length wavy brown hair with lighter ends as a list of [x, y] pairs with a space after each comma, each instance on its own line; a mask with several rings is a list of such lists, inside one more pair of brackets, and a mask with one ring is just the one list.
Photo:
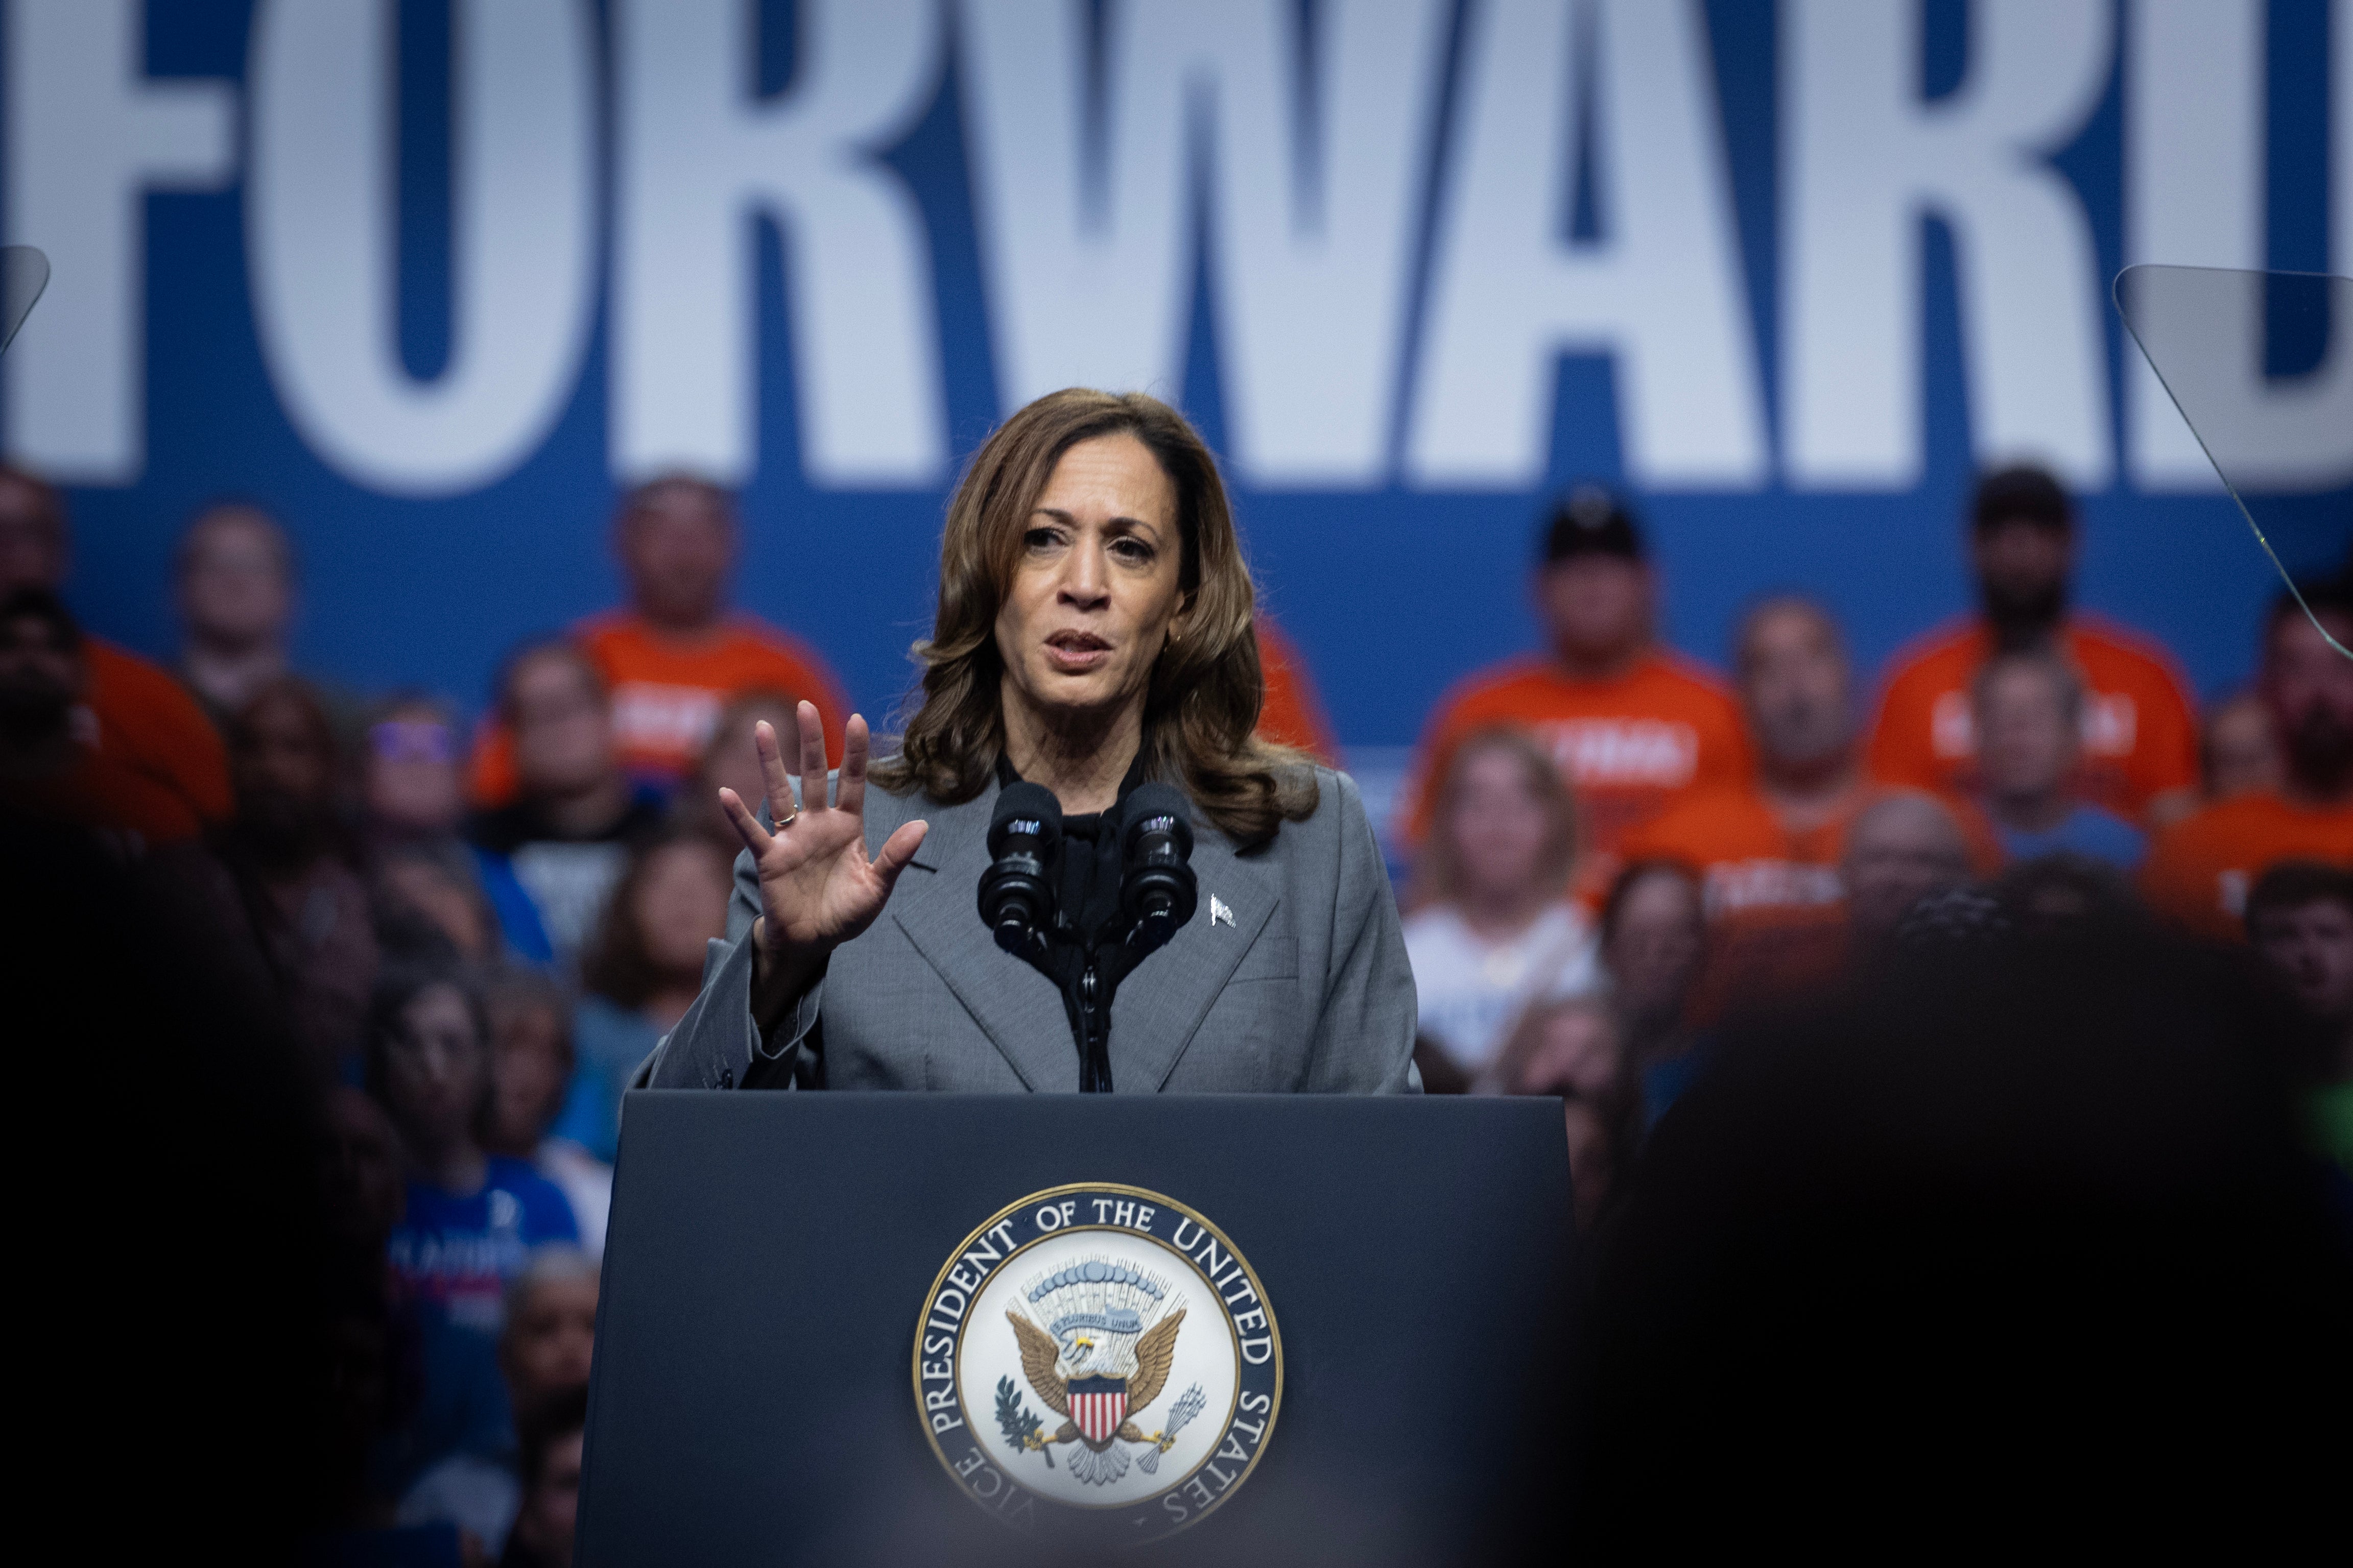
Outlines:
[[1257, 592], [1233, 529], [1217, 458], [1184, 414], [1144, 393], [1066, 388], [1028, 404], [981, 442], [948, 501], [939, 543], [939, 614], [915, 644], [922, 679], [908, 698], [899, 755], [875, 783], [922, 790], [955, 806], [988, 788], [1005, 750], [998, 611], [1012, 592], [1021, 536], [1061, 454], [1104, 435], [1134, 435], [1176, 489], [1184, 541], [1184, 635], [1169, 637], [1144, 693], [1144, 766], [1179, 783], [1235, 844], [1257, 844], [1315, 811], [1304, 752], [1261, 741], [1264, 677], [1252, 630]]

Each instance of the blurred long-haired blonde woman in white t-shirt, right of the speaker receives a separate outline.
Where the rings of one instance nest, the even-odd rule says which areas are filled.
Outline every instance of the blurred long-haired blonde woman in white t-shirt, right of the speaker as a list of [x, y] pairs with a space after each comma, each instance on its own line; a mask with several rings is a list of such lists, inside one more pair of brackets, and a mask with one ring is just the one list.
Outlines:
[[1522, 1013], [1593, 990], [1593, 936], [1567, 900], [1577, 806], [1551, 757], [1518, 729], [1454, 748], [1405, 919], [1424, 1077], [1478, 1077]]

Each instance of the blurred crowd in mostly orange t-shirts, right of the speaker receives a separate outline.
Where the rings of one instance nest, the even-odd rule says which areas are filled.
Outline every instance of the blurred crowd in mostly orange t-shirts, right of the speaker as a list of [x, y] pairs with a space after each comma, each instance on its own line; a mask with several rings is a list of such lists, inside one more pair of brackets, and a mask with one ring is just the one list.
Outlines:
[[1979, 611], [1866, 693], [1798, 592], [1746, 609], [1729, 682], [1659, 646], [1635, 515], [1567, 494], [1532, 583], [1551, 646], [1454, 686], [1400, 811], [1424, 1084], [1562, 1095], [1598, 1222], [1720, 1041], [1871, 978], [1906, 933], [2129, 929], [2240, 950], [2297, 997], [2341, 1182], [2353, 555], [2278, 597], [2252, 684], [2200, 712], [2155, 639], [2075, 609], [2078, 527], [2047, 473], [1981, 475]]

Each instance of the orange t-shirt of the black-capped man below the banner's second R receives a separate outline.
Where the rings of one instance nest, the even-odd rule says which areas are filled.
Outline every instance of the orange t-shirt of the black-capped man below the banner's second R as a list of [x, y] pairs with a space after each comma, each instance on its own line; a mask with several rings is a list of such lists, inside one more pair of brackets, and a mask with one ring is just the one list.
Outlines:
[[[2174, 661], [2120, 625], [2075, 616], [2066, 656], [2082, 672], [2082, 780], [2094, 806], [2139, 823], [2148, 802], [2198, 785], [2198, 715]], [[1984, 623], [1932, 632], [1887, 665], [1871, 726], [1871, 771], [1882, 783], [1941, 795], [1977, 790], [1969, 682], [1993, 651]]]

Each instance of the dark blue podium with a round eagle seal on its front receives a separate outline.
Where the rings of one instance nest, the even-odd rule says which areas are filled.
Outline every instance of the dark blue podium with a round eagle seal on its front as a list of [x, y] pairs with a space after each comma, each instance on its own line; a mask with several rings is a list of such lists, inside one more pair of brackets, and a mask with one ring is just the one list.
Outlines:
[[1558, 1556], [1558, 1100], [631, 1093], [579, 1563]]

